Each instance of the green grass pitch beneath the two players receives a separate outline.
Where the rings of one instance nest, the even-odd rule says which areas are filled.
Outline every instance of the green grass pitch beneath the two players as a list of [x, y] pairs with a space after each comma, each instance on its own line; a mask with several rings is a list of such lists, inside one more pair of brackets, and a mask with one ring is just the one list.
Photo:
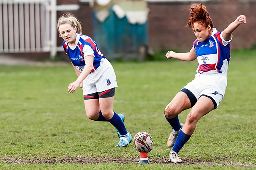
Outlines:
[[[167, 161], [171, 128], [164, 108], [194, 78], [196, 61], [112, 62], [119, 86], [114, 111], [126, 116], [132, 136], [150, 133], [151, 164], [137, 164], [140, 154], [133, 144], [115, 148], [119, 139], [110, 123], [86, 117], [82, 90], [67, 92], [76, 78], [70, 64], [0, 66], [0, 169], [255, 169], [255, 54], [232, 54], [225, 97], [218, 109], [198, 122], [179, 152], [182, 164]], [[181, 122], [188, 111], [180, 114]], [[83, 162], [90, 158], [96, 163]]]

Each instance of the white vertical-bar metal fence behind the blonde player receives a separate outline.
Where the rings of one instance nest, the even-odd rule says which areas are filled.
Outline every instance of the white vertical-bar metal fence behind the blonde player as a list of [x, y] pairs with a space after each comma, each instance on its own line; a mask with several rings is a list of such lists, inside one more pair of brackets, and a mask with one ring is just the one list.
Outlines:
[[56, 0], [0, 0], [0, 53], [56, 55]]

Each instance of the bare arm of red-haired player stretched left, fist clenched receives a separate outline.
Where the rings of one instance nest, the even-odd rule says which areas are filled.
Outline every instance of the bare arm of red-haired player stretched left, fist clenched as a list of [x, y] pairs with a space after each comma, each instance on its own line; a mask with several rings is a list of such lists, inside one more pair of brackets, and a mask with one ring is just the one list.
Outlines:
[[174, 51], [168, 51], [165, 56], [167, 59], [174, 58], [182, 61], [193, 61], [196, 59], [196, 51], [192, 47], [188, 53], [176, 53]]

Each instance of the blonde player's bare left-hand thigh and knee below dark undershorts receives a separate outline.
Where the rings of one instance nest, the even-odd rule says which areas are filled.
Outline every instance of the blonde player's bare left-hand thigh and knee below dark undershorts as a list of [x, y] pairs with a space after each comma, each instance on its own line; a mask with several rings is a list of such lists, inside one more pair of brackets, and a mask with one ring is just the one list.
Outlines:
[[98, 119], [100, 112], [99, 99], [84, 100], [84, 108], [89, 119]]

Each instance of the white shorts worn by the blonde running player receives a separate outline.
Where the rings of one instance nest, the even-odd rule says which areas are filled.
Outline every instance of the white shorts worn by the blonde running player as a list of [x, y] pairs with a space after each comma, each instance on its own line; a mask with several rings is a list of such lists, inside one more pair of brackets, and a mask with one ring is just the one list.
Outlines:
[[83, 81], [83, 95], [103, 92], [117, 87], [116, 74], [113, 66], [104, 58], [100, 61], [100, 66], [91, 72]]

